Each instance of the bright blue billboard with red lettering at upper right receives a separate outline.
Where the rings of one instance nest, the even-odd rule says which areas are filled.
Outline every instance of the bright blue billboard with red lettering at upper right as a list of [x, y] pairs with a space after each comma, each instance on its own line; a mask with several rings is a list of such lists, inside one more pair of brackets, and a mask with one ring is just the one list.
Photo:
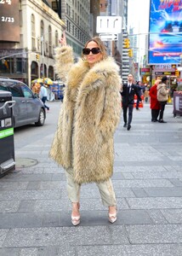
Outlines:
[[182, 0], [151, 0], [149, 64], [180, 63]]

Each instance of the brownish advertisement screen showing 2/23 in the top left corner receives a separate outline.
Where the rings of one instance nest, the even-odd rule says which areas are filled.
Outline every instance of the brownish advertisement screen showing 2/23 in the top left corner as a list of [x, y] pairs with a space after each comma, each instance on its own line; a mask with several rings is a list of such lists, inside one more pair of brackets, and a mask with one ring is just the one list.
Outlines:
[[20, 42], [19, 0], [0, 0], [0, 41]]

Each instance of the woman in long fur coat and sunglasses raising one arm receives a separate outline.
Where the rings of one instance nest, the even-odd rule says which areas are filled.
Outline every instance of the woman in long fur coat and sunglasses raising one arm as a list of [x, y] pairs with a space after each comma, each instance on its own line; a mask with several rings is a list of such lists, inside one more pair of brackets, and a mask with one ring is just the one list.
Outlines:
[[100, 38], [92, 38], [82, 49], [82, 59], [73, 65], [71, 46], [65, 33], [55, 55], [56, 73], [65, 82], [65, 95], [50, 156], [65, 168], [71, 222], [80, 223], [82, 183], [96, 183], [109, 221], [117, 220], [116, 197], [111, 184], [113, 134], [121, 111], [119, 67], [106, 55]]

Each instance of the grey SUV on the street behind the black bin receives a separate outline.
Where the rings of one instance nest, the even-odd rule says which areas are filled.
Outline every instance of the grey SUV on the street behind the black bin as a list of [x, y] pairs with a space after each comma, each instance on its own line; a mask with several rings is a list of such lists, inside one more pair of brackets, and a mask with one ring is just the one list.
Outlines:
[[1, 79], [0, 90], [10, 91], [12, 99], [15, 101], [14, 127], [35, 123], [43, 126], [46, 118], [46, 111], [43, 102], [33, 94], [30, 88], [14, 79]]

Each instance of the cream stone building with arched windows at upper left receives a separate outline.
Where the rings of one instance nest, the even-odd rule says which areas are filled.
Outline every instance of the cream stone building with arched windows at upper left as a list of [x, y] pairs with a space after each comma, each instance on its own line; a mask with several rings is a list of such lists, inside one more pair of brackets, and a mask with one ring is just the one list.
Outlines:
[[11, 3], [12, 19], [14, 9], [18, 10], [14, 20], [19, 27], [14, 32], [19, 35], [11, 40], [0, 38], [0, 76], [19, 79], [28, 85], [40, 77], [54, 79], [54, 48], [59, 44], [65, 23], [42, 0]]

